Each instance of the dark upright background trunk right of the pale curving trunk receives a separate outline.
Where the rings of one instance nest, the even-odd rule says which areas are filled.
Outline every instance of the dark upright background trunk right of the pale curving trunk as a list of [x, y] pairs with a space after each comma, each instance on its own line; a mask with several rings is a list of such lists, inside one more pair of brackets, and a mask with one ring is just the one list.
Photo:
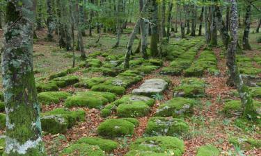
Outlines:
[[243, 49], [244, 50], [251, 50], [251, 46], [248, 41], [249, 31], [250, 31], [250, 24], [251, 24], [251, 3], [248, 3], [246, 6], [246, 17], [245, 17], [245, 29], [243, 35]]

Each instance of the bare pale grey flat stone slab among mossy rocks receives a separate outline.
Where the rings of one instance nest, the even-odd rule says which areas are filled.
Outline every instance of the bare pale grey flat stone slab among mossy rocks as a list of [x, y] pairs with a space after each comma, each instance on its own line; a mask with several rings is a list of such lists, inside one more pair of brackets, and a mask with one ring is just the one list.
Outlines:
[[163, 79], [149, 79], [145, 80], [138, 89], [134, 89], [132, 94], [143, 95], [143, 96], [152, 96], [155, 94], [163, 94], [163, 92], [168, 87], [168, 83]]

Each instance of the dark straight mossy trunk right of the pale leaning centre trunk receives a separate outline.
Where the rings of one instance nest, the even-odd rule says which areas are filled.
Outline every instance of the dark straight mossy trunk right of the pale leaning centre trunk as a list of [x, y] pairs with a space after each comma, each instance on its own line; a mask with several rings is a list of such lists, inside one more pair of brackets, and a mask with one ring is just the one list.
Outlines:
[[150, 38], [150, 51], [152, 57], [157, 57], [159, 55], [158, 43], [159, 43], [159, 32], [158, 32], [158, 4], [157, 0], [150, 0], [151, 2], [151, 38]]

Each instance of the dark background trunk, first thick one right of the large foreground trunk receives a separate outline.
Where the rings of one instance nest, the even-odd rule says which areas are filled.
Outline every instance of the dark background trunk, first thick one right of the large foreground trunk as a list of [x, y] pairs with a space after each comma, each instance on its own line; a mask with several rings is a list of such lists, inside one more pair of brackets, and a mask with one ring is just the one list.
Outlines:
[[47, 0], [46, 3], [47, 3], [47, 28], [48, 28], [47, 40], [52, 41], [54, 38], [53, 33], [55, 28], [54, 17], [52, 14], [52, 0]]

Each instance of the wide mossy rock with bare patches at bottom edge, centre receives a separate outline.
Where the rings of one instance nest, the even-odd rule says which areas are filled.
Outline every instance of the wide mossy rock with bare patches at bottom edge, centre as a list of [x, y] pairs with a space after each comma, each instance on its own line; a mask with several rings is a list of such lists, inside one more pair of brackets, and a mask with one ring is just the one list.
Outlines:
[[136, 139], [129, 149], [181, 156], [184, 153], [184, 141], [176, 137], [143, 137]]

